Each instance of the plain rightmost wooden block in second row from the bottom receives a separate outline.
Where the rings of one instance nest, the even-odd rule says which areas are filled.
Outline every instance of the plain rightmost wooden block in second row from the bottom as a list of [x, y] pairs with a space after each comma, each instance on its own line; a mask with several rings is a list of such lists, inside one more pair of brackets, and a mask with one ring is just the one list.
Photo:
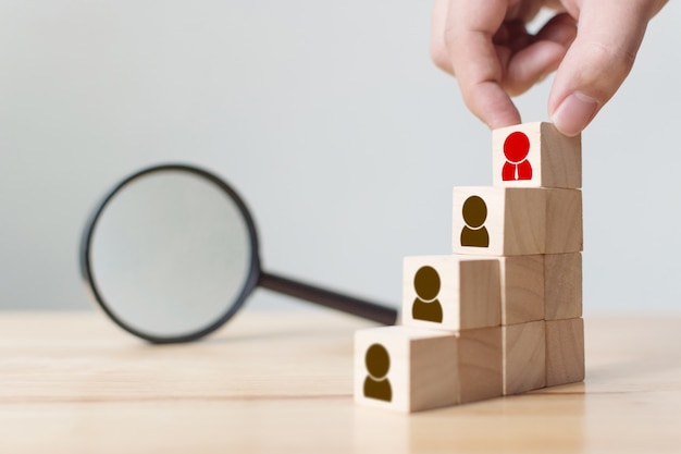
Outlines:
[[546, 320], [582, 317], [582, 253], [544, 256]]

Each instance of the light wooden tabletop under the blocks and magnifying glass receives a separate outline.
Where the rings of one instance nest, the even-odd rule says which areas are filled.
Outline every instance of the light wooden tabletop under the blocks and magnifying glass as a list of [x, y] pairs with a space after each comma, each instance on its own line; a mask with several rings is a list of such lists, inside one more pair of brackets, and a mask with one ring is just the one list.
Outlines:
[[586, 318], [585, 383], [403, 415], [351, 397], [331, 311], [145, 344], [98, 312], [0, 314], [1, 453], [681, 453], [681, 317]]

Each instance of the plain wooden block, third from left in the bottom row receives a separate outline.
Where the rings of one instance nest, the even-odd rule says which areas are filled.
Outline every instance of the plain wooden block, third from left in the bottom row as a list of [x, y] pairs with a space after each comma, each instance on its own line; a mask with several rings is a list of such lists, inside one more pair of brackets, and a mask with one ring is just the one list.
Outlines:
[[546, 385], [545, 321], [502, 327], [504, 395], [520, 394]]

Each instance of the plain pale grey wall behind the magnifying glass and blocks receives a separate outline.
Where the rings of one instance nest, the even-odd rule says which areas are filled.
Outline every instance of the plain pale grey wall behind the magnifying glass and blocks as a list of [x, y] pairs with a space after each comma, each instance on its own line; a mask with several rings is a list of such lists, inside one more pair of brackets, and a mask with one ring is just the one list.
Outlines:
[[[81, 229], [147, 164], [232, 182], [269, 270], [397, 305], [449, 254], [491, 134], [429, 58], [430, 2], [0, 1], [0, 308], [90, 307]], [[586, 312], [681, 308], [681, 7], [583, 134]], [[518, 98], [546, 120], [550, 81]], [[258, 291], [256, 307], [302, 307]]]

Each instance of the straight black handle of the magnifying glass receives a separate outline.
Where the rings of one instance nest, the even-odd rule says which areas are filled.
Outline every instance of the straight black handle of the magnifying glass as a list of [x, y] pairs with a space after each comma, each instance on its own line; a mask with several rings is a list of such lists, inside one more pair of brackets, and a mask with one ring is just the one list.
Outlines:
[[379, 323], [395, 324], [397, 322], [397, 310], [391, 307], [342, 295], [278, 275], [261, 272], [258, 285], [288, 296], [295, 296], [310, 303], [377, 321]]

